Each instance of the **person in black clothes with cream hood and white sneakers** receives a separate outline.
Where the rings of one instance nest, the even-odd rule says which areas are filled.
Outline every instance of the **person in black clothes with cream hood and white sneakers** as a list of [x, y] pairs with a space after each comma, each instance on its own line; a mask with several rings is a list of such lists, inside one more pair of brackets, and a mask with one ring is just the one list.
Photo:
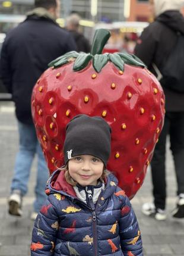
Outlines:
[[[178, 35], [184, 36], [184, 18], [180, 13], [182, 6], [184, 6], [183, 0], [150, 0], [155, 19], [138, 39], [135, 55], [156, 76], [166, 66], [170, 52], [175, 49]], [[180, 60], [178, 63], [180, 64]], [[165, 166], [167, 135], [170, 136], [170, 149], [175, 163], [177, 182], [177, 203], [172, 216], [184, 218], [184, 93], [168, 88], [162, 81], [160, 80], [166, 96], [166, 115], [151, 161], [154, 202], [142, 206], [142, 213], [154, 216], [156, 220], [165, 220], [167, 217]]]

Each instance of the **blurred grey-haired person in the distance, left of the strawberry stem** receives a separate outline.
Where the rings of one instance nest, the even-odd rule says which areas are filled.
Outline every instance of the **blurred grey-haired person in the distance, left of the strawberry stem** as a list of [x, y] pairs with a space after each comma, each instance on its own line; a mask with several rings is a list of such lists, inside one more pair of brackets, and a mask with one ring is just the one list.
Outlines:
[[88, 39], [79, 32], [81, 17], [78, 14], [71, 14], [66, 18], [66, 29], [72, 34], [77, 44], [78, 52], [90, 52], [91, 46]]

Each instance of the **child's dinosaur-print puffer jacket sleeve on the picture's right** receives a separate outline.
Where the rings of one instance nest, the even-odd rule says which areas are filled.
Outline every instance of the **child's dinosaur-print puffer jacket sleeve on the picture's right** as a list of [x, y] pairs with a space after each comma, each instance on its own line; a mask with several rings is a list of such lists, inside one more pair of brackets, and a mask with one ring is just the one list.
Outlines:
[[137, 218], [127, 196], [121, 208], [120, 245], [123, 255], [143, 256], [142, 239]]

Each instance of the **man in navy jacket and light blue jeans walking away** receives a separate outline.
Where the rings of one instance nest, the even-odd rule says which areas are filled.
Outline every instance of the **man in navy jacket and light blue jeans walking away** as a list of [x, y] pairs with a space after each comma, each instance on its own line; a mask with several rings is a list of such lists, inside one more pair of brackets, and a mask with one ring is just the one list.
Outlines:
[[9, 214], [21, 216], [22, 197], [27, 192], [28, 177], [34, 155], [38, 155], [36, 201], [32, 218], [45, 201], [48, 170], [37, 141], [31, 118], [31, 92], [47, 64], [58, 56], [76, 49], [72, 36], [56, 24], [59, 0], [36, 0], [35, 9], [26, 20], [8, 33], [2, 46], [0, 74], [15, 102], [20, 149], [9, 197]]

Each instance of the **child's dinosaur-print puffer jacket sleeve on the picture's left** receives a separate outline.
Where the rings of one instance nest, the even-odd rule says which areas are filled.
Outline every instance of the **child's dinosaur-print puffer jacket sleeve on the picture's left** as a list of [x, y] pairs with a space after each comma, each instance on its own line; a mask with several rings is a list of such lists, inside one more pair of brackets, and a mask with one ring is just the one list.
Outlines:
[[54, 254], [58, 228], [59, 221], [56, 208], [47, 200], [34, 222], [31, 256], [51, 256]]

